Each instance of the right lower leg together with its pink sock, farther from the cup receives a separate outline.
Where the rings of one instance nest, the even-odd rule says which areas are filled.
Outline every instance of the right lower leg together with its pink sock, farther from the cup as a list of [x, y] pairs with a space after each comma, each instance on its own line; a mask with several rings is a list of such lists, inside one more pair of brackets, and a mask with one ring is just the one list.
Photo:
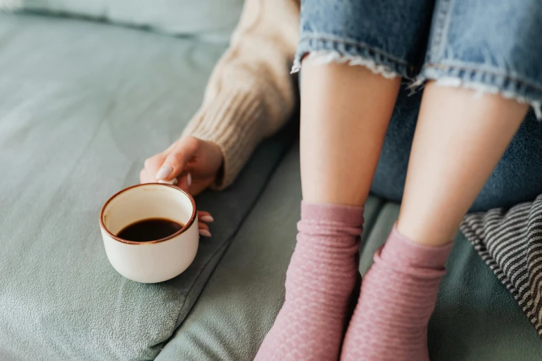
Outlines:
[[365, 275], [341, 360], [429, 360], [451, 240], [526, 111], [499, 95], [426, 86], [399, 221]]

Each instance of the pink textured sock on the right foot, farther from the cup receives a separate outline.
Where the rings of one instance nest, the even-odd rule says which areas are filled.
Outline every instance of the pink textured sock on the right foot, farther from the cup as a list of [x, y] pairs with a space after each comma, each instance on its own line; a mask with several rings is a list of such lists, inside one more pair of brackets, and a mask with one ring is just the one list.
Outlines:
[[427, 324], [450, 250], [451, 243], [422, 246], [393, 228], [363, 278], [341, 360], [429, 360]]

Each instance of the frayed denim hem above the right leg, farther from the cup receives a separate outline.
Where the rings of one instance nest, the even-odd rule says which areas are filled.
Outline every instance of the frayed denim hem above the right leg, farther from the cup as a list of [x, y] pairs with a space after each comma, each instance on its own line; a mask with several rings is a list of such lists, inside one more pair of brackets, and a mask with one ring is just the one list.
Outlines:
[[415, 92], [428, 80], [435, 80], [439, 86], [473, 89], [476, 95], [499, 94], [506, 99], [530, 104], [536, 119], [542, 120], [542, 89], [525, 80], [476, 68], [431, 64], [422, 68], [422, 72], [408, 88]]

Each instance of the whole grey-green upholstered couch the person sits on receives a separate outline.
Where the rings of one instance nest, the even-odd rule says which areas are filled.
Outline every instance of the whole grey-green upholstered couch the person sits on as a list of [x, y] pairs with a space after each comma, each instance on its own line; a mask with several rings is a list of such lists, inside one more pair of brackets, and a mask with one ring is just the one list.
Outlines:
[[[53, 9], [155, 31], [28, 3], [39, 13], [0, 15], [0, 360], [251, 360], [282, 303], [295, 241], [295, 118], [232, 187], [197, 198], [215, 216], [213, 237], [179, 277], [118, 275], [98, 227], [102, 203], [136, 183], [143, 159], [196, 111], [241, 1], [222, 3], [231, 21], [218, 29], [172, 29], [143, 10]], [[186, 3], [196, 17], [211, 1]], [[368, 201], [361, 272], [397, 212]], [[542, 359], [534, 328], [462, 234], [429, 346], [436, 361]]]

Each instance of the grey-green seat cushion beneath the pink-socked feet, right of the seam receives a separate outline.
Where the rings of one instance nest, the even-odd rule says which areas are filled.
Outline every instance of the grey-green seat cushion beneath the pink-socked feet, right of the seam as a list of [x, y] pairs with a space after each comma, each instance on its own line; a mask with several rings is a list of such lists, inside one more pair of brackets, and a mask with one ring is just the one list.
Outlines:
[[[298, 149], [280, 164], [185, 322], [156, 360], [253, 360], [284, 297], [301, 198]], [[360, 270], [399, 206], [369, 198]], [[458, 234], [429, 325], [433, 361], [541, 360], [542, 342], [512, 295]]]

